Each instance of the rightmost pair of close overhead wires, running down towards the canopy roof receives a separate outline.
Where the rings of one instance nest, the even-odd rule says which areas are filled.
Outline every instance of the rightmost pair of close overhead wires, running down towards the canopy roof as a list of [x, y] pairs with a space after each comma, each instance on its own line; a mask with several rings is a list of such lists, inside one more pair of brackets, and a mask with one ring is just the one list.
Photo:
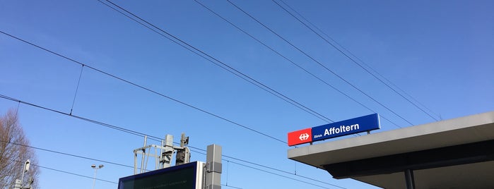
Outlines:
[[[286, 11], [286, 13], [290, 14], [290, 16], [292, 16], [293, 18], [295, 18], [295, 20], [298, 20], [299, 23], [301, 23], [302, 25], [304, 25], [306, 28], [308, 28], [309, 30], [311, 30], [312, 32], [314, 32], [314, 34], [316, 34], [319, 38], [323, 39], [324, 42], [326, 42], [327, 44], [331, 45], [331, 47], [333, 47], [334, 49], [336, 49], [337, 51], [339, 51], [341, 54], [343, 54], [343, 56], [345, 56], [346, 58], [348, 58], [350, 61], [352, 61], [353, 63], [357, 64], [360, 68], [362, 68], [364, 71], [366, 71], [367, 73], [369, 73], [370, 75], [372, 75], [374, 78], [376, 78], [377, 80], [380, 81], [380, 83], [386, 85], [386, 87], [388, 87], [390, 90], [392, 90], [393, 92], [395, 92], [396, 94], [398, 94], [400, 97], [402, 97], [403, 99], [406, 99], [406, 101], [410, 102], [410, 104], [413, 104], [413, 106], [416, 106], [417, 109], [420, 109], [423, 113], [427, 114], [430, 118], [433, 118], [435, 121], [437, 121], [437, 118], [435, 118], [434, 116], [430, 115], [427, 111], [425, 111], [424, 109], [422, 109], [420, 106], [418, 106], [417, 104], [413, 103], [410, 99], [408, 99], [407, 97], [405, 97], [403, 94], [401, 94], [400, 92], [398, 92], [397, 90], [394, 89], [394, 87], [391, 87], [388, 83], [385, 83], [384, 80], [382, 80], [381, 78], [377, 77], [377, 75], [375, 75], [374, 73], [372, 73], [371, 71], [369, 71], [367, 68], [365, 68], [362, 64], [358, 63], [358, 61], [356, 61], [355, 59], [353, 59], [351, 56], [353, 57], [356, 57], [356, 59], [358, 59], [357, 56], [355, 56], [355, 54], [351, 53], [351, 51], [348, 51], [348, 49], [344, 48], [343, 49], [345, 51], [348, 51], [350, 55], [346, 54], [345, 51], [339, 49], [338, 47], [336, 47], [336, 44], [338, 44], [333, 38], [329, 37], [329, 39], [331, 39], [334, 44], [332, 42], [329, 42], [326, 38], [322, 37], [322, 35], [320, 35], [318, 32], [316, 32], [315, 30], [313, 30], [312, 28], [310, 28], [309, 25], [307, 25], [306, 23], [304, 23], [302, 20], [300, 20], [297, 16], [293, 15], [293, 13], [291, 13], [290, 11], [288, 11], [285, 7], [281, 6], [281, 4], [278, 4], [278, 2], [276, 2], [275, 0], [271, 0], [273, 1], [276, 5], [278, 5], [278, 7], [280, 7], [281, 9], [283, 9], [283, 11]], [[283, 2], [282, 0], [280, 0], [281, 2]], [[288, 4], [286, 4], [285, 2], [283, 2], [283, 4], [285, 4], [286, 6], [288, 6]], [[291, 10], [295, 11], [293, 8], [291, 8], [290, 6], [288, 6]], [[296, 12], [299, 16], [300, 13]], [[306, 20], [308, 22], [307, 19], [305, 19], [303, 16], [301, 16], [304, 20]], [[308, 22], [310, 23], [310, 22]], [[310, 23], [311, 25], [313, 25], [312, 23]], [[315, 25], [313, 25], [315, 27]], [[317, 27], [316, 27], [317, 28]], [[328, 36], [328, 35], [327, 35]], [[339, 47], [342, 47], [341, 44], [338, 44]], [[361, 59], [359, 59], [361, 62], [363, 62]], [[367, 64], [365, 64], [367, 67], [370, 68], [370, 66], [368, 66]], [[373, 71], [375, 71], [374, 69], [372, 69]], [[382, 75], [381, 75], [382, 76]], [[388, 80], [389, 81], [389, 80]], [[396, 85], [395, 85], [396, 86]]]

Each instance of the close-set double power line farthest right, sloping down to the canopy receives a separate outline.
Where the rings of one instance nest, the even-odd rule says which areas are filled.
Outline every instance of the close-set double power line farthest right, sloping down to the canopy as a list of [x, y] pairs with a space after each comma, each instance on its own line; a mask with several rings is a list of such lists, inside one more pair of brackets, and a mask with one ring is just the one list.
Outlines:
[[[300, 13], [298, 13], [297, 11], [295, 11], [295, 9], [291, 8], [290, 6], [288, 6], [288, 4], [286, 4], [283, 0], [279, 0], [279, 1], [281, 1], [285, 6], [287, 6], [288, 8], [290, 8], [290, 10], [292, 10], [295, 13], [297, 13], [298, 16], [300, 16], [300, 18], [302, 18], [307, 23], [309, 23], [310, 25], [312, 25], [312, 27], [316, 28], [317, 30], [319, 30], [319, 32], [322, 32], [324, 35], [326, 35], [334, 43], [329, 42], [326, 38], [322, 37], [322, 35], [320, 35], [319, 32], [317, 32], [317, 31], [313, 30], [312, 28], [310, 28], [309, 25], [307, 25], [306, 23], [304, 23], [297, 16], [293, 15], [293, 13], [291, 13], [290, 11], [288, 11], [285, 7], [281, 6], [281, 4], [278, 4], [278, 2], [276, 2], [275, 0], [271, 0], [271, 1], [273, 1], [276, 5], [278, 5], [278, 7], [280, 7], [281, 9], [283, 9], [283, 11], [286, 11], [286, 13], [290, 14], [290, 16], [292, 16], [293, 18], [295, 18], [295, 20], [298, 20], [299, 23], [301, 23], [306, 28], [308, 28], [309, 30], [311, 30], [312, 32], [314, 32], [314, 34], [316, 34], [319, 38], [321, 38], [322, 40], [324, 40], [324, 42], [326, 42], [327, 44], [331, 45], [331, 47], [334, 47], [334, 49], [336, 49], [341, 54], [343, 54], [343, 56], [345, 56], [346, 58], [348, 58], [349, 60], [351, 60], [353, 63], [357, 64], [360, 68], [362, 68], [364, 71], [366, 71], [367, 73], [369, 73], [370, 75], [372, 75], [374, 78], [376, 78], [377, 80], [379, 80], [382, 84], [386, 85], [386, 87], [388, 87], [390, 90], [392, 90], [393, 92], [395, 92], [396, 94], [398, 94], [403, 99], [406, 99], [406, 101], [410, 102], [410, 104], [413, 104], [413, 106], [416, 106], [417, 109], [420, 109], [423, 113], [425, 113], [428, 116], [430, 116], [430, 118], [433, 118], [435, 121], [438, 121], [437, 118], [435, 118], [434, 116], [430, 115], [427, 111], [425, 111], [424, 109], [422, 109], [416, 103], [413, 103], [410, 99], [408, 99], [403, 94], [401, 94], [400, 92], [398, 92], [398, 91], [396, 91], [394, 89], [394, 87], [396, 87], [398, 89], [399, 89], [399, 87], [397, 87], [396, 85], [392, 84], [387, 78], [384, 78], [380, 73], [378, 73], [377, 71], [375, 71], [374, 69], [372, 69], [372, 67], [370, 67], [367, 63], [365, 63], [364, 61], [362, 61], [361, 59], [359, 59], [358, 56], [355, 56], [355, 54], [353, 54], [351, 51], [349, 51], [348, 49], [346, 49], [345, 47], [343, 47], [341, 44], [339, 44], [338, 42], [336, 42], [333, 38], [329, 37], [329, 35], [327, 35], [325, 32], [322, 32], [322, 30], [320, 30], [319, 28], [317, 28], [316, 25], [312, 24], [304, 16], [302, 16]], [[338, 45], [339, 47], [341, 47], [341, 49], [343, 49], [344, 51], [341, 50], [340, 48], [336, 47], [336, 45]], [[345, 51], [347, 51], [348, 54], [350, 54], [350, 55], [346, 54]], [[382, 80], [381, 78], [377, 77], [377, 75], [375, 75], [374, 73], [372, 73], [371, 71], [369, 71], [367, 68], [365, 68], [364, 66], [362, 66], [362, 64], [358, 63], [358, 61], [356, 61], [355, 59], [353, 59], [352, 56], [355, 57], [355, 59], [357, 59], [358, 61], [360, 61], [363, 64], [365, 64], [365, 66], [367, 66], [368, 68], [370, 68], [372, 71], [374, 71], [375, 73], [377, 73], [378, 75], [380, 75], [382, 78], [384, 78], [384, 80], [387, 80], [388, 83], [391, 83], [392, 85], [394, 85], [394, 87], [390, 86], [388, 83], [384, 82], [384, 80]], [[399, 89], [399, 90], [401, 90], [401, 89]], [[403, 90], [401, 90], [401, 91], [404, 92]], [[409, 97], [411, 97], [409, 94], [407, 94], [407, 95]], [[411, 98], [413, 99], [413, 97], [411, 97]], [[415, 99], [415, 101], [417, 101], [417, 100]], [[421, 104], [421, 105], [423, 106], [423, 104]], [[428, 109], [427, 107], [425, 107], [425, 108]], [[430, 111], [430, 109], [428, 109], [428, 110]]]

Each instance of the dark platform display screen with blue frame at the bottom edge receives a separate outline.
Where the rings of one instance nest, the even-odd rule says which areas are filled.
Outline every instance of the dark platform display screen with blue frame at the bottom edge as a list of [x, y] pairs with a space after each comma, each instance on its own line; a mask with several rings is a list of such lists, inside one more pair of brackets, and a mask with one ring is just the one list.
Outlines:
[[119, 179], [118, 189], [199, 189], [204, 163], [194, 161]]

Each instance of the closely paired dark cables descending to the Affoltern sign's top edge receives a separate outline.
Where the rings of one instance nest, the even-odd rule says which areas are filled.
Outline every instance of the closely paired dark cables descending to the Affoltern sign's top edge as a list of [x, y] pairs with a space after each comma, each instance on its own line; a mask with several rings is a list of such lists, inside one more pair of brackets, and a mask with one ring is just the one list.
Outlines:
[[[97, 0], [97, 1], [100, 1], [102, 4], [105, 4], [104, 2], [102, 2], [102, 0]], [[172, 35], [170, 32], [167, 32], [167, 31], [163, 30], [162, 28], [159, 28], [158, 26], [153, 25], [153, 23], [149, 23], [147, 20], [144, 20], [143, 18], [137, 16], [136, 14], [131, 13], [130, 11], [128, 11], [125, 8], [122, 8], [118, 4], [115, 4], [112, 1], [108, 1], [108, 0], [105, 0], [105, 1], [107, 1], [110, 4], [112, 4], [113, 6], [117, 7], [119, 10], [124, 11], [125, 13], [122, 12], [122, 11], [117, 10], [116, 8], [114, 8], [113, 6], [110, 6], [108, 4], [105, 4], [105, 6], [108, 6], [108, 7], [112, 8], [114, 11], [117, 11], [118, 13], [123, 14], [127, 18], [131, 18], [131, 16], [134, 17], [134, 18], [136, 18], [136, 19], [131, 18], [131, 20], [136, 21], [140, 25], [144, 25], [143, 23], [146, 23], [147, 25], [150, 25], [151, 28], [155, 28], [156, 30], [159, 30], [160, 32], [165, 33], [167, 36], [169, 36], [169, 37], [166, 37], [167, 39], [170, 39], [170, 40], [172, 40], [172, 42], [175, 42], [175, 43], [179, 43], [180, 42], [182, 44], [180, 46], [188, 49], [189, 51], [192, 51], [192, 49], [194, 49], [194, 51], [196, 51], [196, 54], [198, 52], [199, 54], [204, 55], [204, 56], [201, 56], [201, 57], [203, 57], [207, 61], [213, 62], [214, 64], [216, 64], [217, 66], [220, 66], [223, 69], [228, 69], [230, 73], [233, 73], [234, 75], [237, 75], [237, 77], [240, 77], [243, 80], [247, 80], [249, 83], [252, 83], [253, 85], [256, 85], [257, 87], [260, 87], [261, 89], [266, 90], [266, 92], [269, 92], [271, 94], [274, 94], [276, 97], [281, 98], [281, 99], [285, 100], [286, 102], [288, 102], [290, 104], [293, 104], [294, 106], [297, 106], [299, 109], [302, 109], [303, 111], [307, 111], [307, 113], [312, 114], [313, 116], [316, 116], [317, 118], [321, 118], [324, 121], [328, 121], [328, 120], [329, 121], [332, 121], [330, 118], [327, 118], [326, 116], [317, 113], [317, 111], [314, 111], [314, 110], [310, 109], [309, 107], [307, 107], [307, 106], [305, 106], [303, 104], [300, 104], [299, 102], [295, 101], [294, 99], [291, 99], [290, 97], [287, 97], [285, 94], [281, 94], [281, 92], [278, 92], [278, 91], [274, 90], [273, 88], [271, 88], [271, 87], [269, 87], [269, 86], [267, 86], [267, 85], [259, 82], [258, 80], [255, 80], [254, 78], [250, 77], [249, 75], [247, 75], [245, 73], [242, 73], [242, 72], [238, 71], [237, 69], [229, 66], [228, 64], [224, 63], [223, 61], [220, 61], [219, 59], [216, 59], [215, 57], [211, 56], [210, 54], [207, 54], [205, 51], [202, 51], [201, 49], [198, 49], [198, 48], [192, 46], [192, 44], [189, 44], [189, 43], [185, 42], [184, 40], [176, 37], [175, 35]], [[129, 14], [129, 15], [131, 15], [131, 16], [127, 15], [126, 13]], [[141, 22], [143, 22], [143, 23], [141, 23]], [[146, 28], [149, 28], [149, 27], [146, 27]], [[155, 30], [153, 30], [153, 31], [156, 32]], [[173, 39], [171, 39], [170, 37], [173, 38]], [[218, 63], [220, 65], [218, 65]]]

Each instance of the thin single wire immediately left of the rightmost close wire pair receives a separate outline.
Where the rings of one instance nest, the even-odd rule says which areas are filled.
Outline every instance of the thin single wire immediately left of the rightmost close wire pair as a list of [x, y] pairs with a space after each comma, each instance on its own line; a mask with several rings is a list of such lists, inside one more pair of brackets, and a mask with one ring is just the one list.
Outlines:
[[272, 32], [274, 35], [276, 35], [277, 37], [279, 37], [280, 39], [283, 39], [284, 42], [286, 42], [287, 44], [290, 44], [291, 47], [297, 49], [298, 51], [300, 51], [300, 53], [304, 54], [305, 56], [307, 56], [307, 58], [311, 59], [312, 61], [314, 61], [315, 63], [317, 63], [319, 66], [322, 66], [322, 68], [324, 68], [325, 70], [329, 71], [330, 73], [332, 73], [333, 75], [335, 75], [337, 78], [340, 78], [341, 80], [343, 80], [345, 83], [347, 83], [348, 85], [350, 85], [351, 87], [353, 87], [355, 90], [358, 90], [360, 93], [364, 94], [366, 97], [372, 99], [372, 101], [376, 102], [377, 104], [380, 104], [382, 107], [384, 107], [384, 109], [387, 109], [388, 111], [390, 111], [392, 114], [394, 114], [395, 116], [398, 116], [399, 118], [401, 118], [402, 120], [406, 121], [406, 123], [410, 124], [411, 126], [413, 126], [413, 123], [411, 123], [410, 121], [408, 121], [406, 118], [404, 118], [403, 116], [397, 114], [395, 111], [393, 111], [392, 109], [389, 109], [388, 106], [382, 104], [381, 102], [377, 101], [377, 99], [375, 99], [374, 97], [371, 97], [369, 94], [367, 94], [366, 92], [364, 92], [363, 90], [361, 90], [360, 88], [358, 88], [357, 86], [353, 85], [352, 83], [350, 83], [348, 80], [346, 80], [345, 78], [341, 77], [341, 75], [338, 75], [337, 73], [335, 73], [334, 71], [332, 71], [331, 69], [329, 69], [327, 66], [324, 66], [323, 63], [321, 63], [320, 61], [318, 61], [317, 59], [314, 59], [314, 57], [310, 56], [309, 54], [307, 54], [305, 51], [303, 51], [302, 49], [298, 48], [297, 46], [295, 46], [295, 44], [289, 42], [287, 39], [285, 39], [284, 37], [281, 37], [281, 35], [279, 35], [277, 32], [275, 32], [274, 30], [272, 30], [271, 28], [269, 28], [267, 25], [265, 25], [264, 23], [261, 23], [261, 21], [257, 20], [257, 18], [254, 18], [254, 16], [250, 15], [249, 13], [247, 13], [247, 11], [243, 10], [242, 8], [240, 8], [240, 6], [237, 6], [237, 4], [234, 4], [232, 1], [230, 0], [227, 0], [228, 3], [230, 3], [232, 6], [234, 6], [235, 8], [237, 8], [239, 11], [241, 11], [242, 13], [245, 13], [245, 15], [249, 16], [249, 18], [252, 18], [252, 20], [256, 21], [257, 23], [259, 23], [259, 25], [262, 25], [264, 28], [266, 28], [267, 30], [269, 30], [270, 32]]

